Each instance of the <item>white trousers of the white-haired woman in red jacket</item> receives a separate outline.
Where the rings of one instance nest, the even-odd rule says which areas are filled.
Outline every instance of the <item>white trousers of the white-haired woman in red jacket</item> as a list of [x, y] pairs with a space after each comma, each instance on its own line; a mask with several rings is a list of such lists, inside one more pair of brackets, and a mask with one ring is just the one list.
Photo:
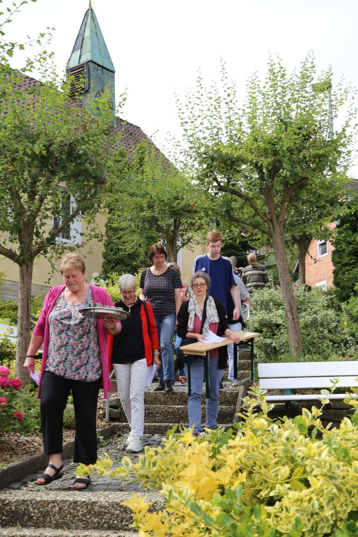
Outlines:
[[147, 360], [133, 364], [113, 364], [118, 393], [131, 433], [142, 437], [144, 429], [144, 388], [147, 376]]

